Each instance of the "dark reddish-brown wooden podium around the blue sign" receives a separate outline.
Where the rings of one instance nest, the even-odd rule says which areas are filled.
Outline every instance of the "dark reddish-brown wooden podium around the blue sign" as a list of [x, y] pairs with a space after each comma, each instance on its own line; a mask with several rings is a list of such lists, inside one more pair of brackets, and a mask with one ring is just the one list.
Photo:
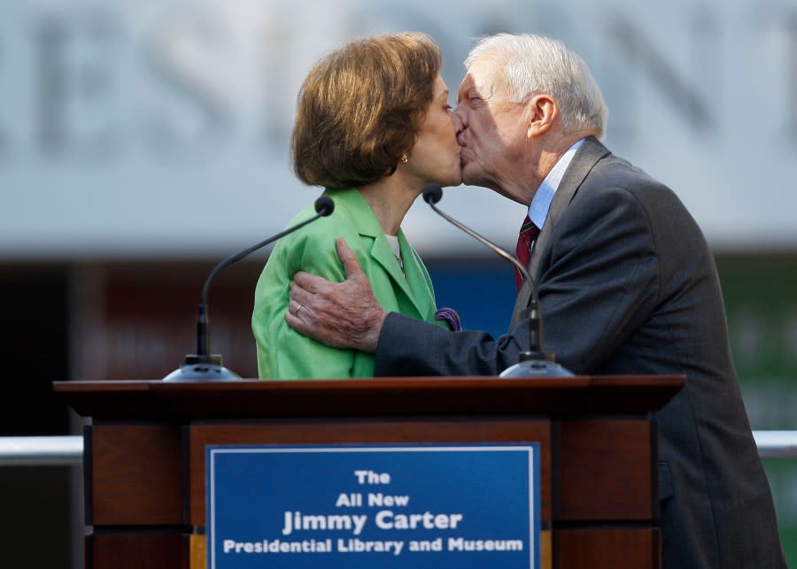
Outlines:
[[58, 381], [85, 428], [86, 567], [205, 567], [205, 445], [538, 442], [541, 566], [661, 567], [655, 424], [683, 376]]

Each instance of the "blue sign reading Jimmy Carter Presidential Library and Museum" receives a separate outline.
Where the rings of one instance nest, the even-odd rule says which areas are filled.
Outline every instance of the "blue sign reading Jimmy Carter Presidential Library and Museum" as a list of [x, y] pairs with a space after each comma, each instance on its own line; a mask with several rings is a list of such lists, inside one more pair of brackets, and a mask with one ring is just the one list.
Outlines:
[[531, 569], [535, 442], [208, 446], [210, 569]]

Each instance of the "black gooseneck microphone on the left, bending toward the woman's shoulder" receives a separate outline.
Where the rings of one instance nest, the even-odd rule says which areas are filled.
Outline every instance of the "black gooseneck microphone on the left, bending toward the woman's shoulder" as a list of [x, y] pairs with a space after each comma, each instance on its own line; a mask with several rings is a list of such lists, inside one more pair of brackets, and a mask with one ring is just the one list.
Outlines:
[[221, 354], [212, 354], [210, 350], [210, 319], [207, 317], [207, 292], [210, 288], [211, 281], [218, 274], [221, 269], [232, 265], [236, 261], [241, 260], [250, 253], [265, 247], [269, 243], [273, 243], [285, 235], [291, 234], [297, 229], [305, 227], [309, 223], [313, 223], [316, 219], [328, 216], [335, 210], [335, 202], [329, 196], [321, 196], [315, 200], [316, 214], [309, 219], [296, 224], [295, 226], [288, 227], [277, 235], [272, 235], [266, 240], [251, 245], [244, 250], [238, 251], [234, 255], [230, 255], [213, 267], [213, 271], [208, 275], [205, 280], [205, 286], [202, 287], [202, 294], [199, 296], [199, 317], [197, 319], [197, 353], [187, 354], [185, 357], [185, 364], [169, 373], [163, 378], [163, 381], [217, 381], [217, 380], [237, 380], [240, 376], [228, 370], [221, 365]]

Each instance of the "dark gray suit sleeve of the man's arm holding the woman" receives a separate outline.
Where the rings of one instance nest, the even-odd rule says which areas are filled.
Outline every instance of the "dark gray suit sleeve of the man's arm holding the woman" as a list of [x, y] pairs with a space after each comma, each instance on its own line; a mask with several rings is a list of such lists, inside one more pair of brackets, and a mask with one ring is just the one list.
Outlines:
[[[622, 187], [586, 192], [553, 228], [540, 273], [543, 349], [573, 373], [590, 373], [654, 309], [658, 261], [646, 211]], [[398, 314], [385, 320], [376, 375], [496, 375], [517, 363], [529, 321], [494, 339], [447, 332]]]

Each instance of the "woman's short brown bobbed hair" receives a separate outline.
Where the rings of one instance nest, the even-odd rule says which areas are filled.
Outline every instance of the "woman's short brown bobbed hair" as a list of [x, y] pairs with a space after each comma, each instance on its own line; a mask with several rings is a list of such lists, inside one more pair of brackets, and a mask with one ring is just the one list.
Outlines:
[[420, 33], [376, 35], [321, 58], [299, 91], [290, 137], [299, 180], [341, 189], [395, 172], [415, 143], [442, 62]]

